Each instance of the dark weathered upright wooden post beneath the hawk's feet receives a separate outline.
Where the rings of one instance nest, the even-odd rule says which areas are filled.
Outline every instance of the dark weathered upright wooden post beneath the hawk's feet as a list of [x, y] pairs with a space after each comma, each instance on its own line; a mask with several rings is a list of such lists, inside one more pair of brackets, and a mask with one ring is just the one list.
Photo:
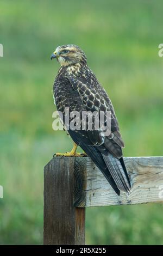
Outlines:
[[54, 157], [44, 172], [44, 244], [84, 245], [85, 208], [73, 206], [73, 157]]

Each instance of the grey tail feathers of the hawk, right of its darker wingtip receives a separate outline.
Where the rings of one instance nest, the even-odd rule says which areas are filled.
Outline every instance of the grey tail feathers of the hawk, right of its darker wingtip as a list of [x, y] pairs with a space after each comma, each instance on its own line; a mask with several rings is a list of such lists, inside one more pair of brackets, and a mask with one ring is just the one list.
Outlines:
[[122, 157], [120, 160], [110, 153], [108, 156], [102, 156], [118, 189], [126, 193], [129, 192], [131, 185]]

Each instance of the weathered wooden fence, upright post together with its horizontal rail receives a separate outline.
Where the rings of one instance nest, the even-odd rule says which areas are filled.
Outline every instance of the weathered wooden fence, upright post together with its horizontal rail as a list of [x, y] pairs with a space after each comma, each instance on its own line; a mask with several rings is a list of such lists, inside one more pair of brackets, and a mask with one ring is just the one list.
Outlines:
[[120, 197], [88, 157], [54, 157], [47, 164], [45, 245], [84, 245], [85, 207], [163, 202], [163, 157], [124, 157], [124, 162], [132, 188]]

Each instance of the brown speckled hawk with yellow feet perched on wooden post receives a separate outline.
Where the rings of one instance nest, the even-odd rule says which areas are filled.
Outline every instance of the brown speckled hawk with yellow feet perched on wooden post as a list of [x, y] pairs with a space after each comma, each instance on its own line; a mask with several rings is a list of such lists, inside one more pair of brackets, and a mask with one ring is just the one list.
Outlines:
[[[51, 59], [53, 58], [56, 58], [61, 65], [54, 81], [53, 92], [57, 110], [63, 116], [65, 107], [69, 108], [70, 113], [73, 111], [80, 114], [83, 111], [103, 112], [105, 122], [107, 121], [106, 112], [111, 113], [108, 136], [104, 135], [101, 127], [91, 131], [69, 129], [68, 133], [73, 139], [74, 147], [70, 153], [57, 153], [56, 156], [79, 156], [80, 154], [76, 153], [79, 145], [101, 170], [118, 195], [121, 191], [128, 193], [131, 185], [122, 157], [124, 142], [108, 94], [87, 65], [85, 53], [80, 47], [58, 46], [51, 56]], [[86, 120], [89, 123], [89, 119]], [[65, 123], [64, 120], [63, 123]]]

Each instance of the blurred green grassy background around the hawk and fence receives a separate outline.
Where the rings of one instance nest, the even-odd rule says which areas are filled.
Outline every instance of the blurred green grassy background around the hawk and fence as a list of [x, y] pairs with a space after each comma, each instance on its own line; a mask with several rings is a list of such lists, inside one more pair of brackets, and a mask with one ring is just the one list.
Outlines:
[[[162, 155], [161, 0], [1, 0], [0, 243], [42, 244], [43, 166], [71, 139], [52, 130], [55, 47], [77, 44], [109, 93], [124, 156]], [[86, 209], [86, 243], [160, 245], [161, 204]]]

